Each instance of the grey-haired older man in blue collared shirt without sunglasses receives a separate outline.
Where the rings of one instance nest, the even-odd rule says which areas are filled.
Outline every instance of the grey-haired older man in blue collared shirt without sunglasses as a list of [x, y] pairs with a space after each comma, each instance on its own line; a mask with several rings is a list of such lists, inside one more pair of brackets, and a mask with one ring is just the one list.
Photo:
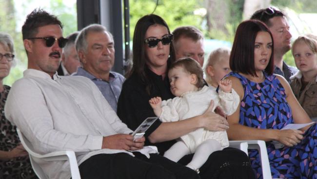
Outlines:
[[118, 98], [125, 78], [110, 71], [115, 63], [112, 34], [100, 24], [91, 24], [80, 31], [75, 44], [82, 67], [74, 75], [91, 79], [117, 112]]

